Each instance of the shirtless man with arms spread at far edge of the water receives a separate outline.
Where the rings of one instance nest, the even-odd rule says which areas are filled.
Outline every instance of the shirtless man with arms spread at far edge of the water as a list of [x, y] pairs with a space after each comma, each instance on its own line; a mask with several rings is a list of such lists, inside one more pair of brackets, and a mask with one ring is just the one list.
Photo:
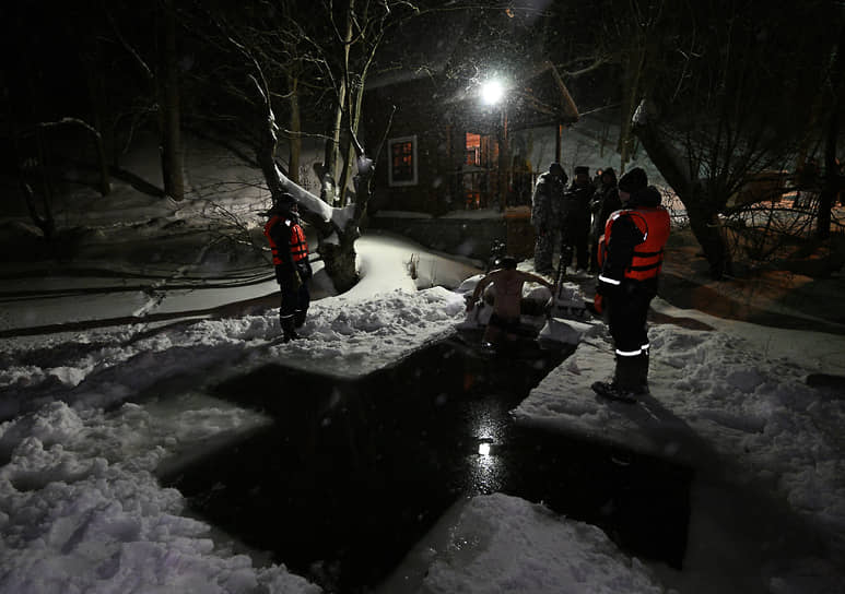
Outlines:
[[508, 341], [517, 338], [517, 329], [519, 326], [520, 304], [523, 301], [523, 285], [527, 282], [540, 283], [543, 286], [554, 290], [552, 285], [545, 278], [516, 270], [516, 259], [506, 256], [500, 261], [502, 268], [492, 271], [476, 285], [472, 292], [472, 299], [467, 304], [467, 311], [472, 311], [476, 302], [484, 294], [484, 288], [493, 283], [495, 299], [493, 301], [493, 313], [490, 316], [488, 328], [484, 331], [482, 346], [493, 346], [502, 332]]

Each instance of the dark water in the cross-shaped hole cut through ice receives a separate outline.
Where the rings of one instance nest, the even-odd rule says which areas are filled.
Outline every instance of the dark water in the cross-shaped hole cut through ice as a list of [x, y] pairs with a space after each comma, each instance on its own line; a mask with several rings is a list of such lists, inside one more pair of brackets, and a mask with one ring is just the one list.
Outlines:
[[[267, 366], [218, 387], [274, 425], [173, 476], [195, 512], [330, 592], [366, 592], [458, 498], [501, 491], [680, 566], [691, 473], [509, 416], [570, 352], [458, 340], [355, 381]], [[481, 453], [480, 453], [481, 452]]]

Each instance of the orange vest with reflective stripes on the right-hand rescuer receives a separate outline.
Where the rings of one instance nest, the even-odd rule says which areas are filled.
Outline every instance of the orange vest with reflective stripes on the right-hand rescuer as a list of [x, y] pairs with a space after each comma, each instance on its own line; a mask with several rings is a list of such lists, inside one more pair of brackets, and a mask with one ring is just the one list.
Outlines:
[[610, 235], [613, 230], [613, 223], [620, 217], [627, 215], [636, 225], [639, 233], [643, 234], [643, 242], [634, 248], [634, 254], [631, 263], [625, 269], [625, 278], [634, 281], [645, 281], [654, 278], [660, 274], [664, 263], [664, 246], [669, 239], [669, 228], [671, 222], [669, 211], [664, 206], [638, 206], [617, 211], [610, 215], [605, 225], [605, 235], [599, 239], [598, 261], [599, 265], [605, 262]]

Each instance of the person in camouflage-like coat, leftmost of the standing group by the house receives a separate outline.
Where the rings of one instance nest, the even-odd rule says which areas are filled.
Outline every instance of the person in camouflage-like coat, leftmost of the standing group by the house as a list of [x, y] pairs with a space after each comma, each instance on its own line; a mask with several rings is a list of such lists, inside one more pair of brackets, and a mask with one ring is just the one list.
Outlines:
[[540, 274], [552, 272], [554, 248], [561, 231], [563, 193], [566, 174], [560, 163], [552, 163], [540, 176], [531, 198], [531, 225], [537, 235], [535, 243], [535, 270]]

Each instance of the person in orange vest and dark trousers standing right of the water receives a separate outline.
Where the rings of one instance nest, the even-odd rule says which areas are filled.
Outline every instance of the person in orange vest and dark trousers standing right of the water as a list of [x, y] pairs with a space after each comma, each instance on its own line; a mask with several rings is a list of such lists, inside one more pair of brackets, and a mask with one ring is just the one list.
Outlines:
[[669, 212], [660, 192], [648, 186], [646, 173], [635, 167], [619, 180], [622, 210], [610, 215], [599, 240], [599, 273], [595, 309], [606, 312], [615, 348], [612, 381], [597, 381], [601, 396], [636, 402], [648, 393], [648, 332], [646, 316], [657, 295], [657, 283], [669, 238]]

